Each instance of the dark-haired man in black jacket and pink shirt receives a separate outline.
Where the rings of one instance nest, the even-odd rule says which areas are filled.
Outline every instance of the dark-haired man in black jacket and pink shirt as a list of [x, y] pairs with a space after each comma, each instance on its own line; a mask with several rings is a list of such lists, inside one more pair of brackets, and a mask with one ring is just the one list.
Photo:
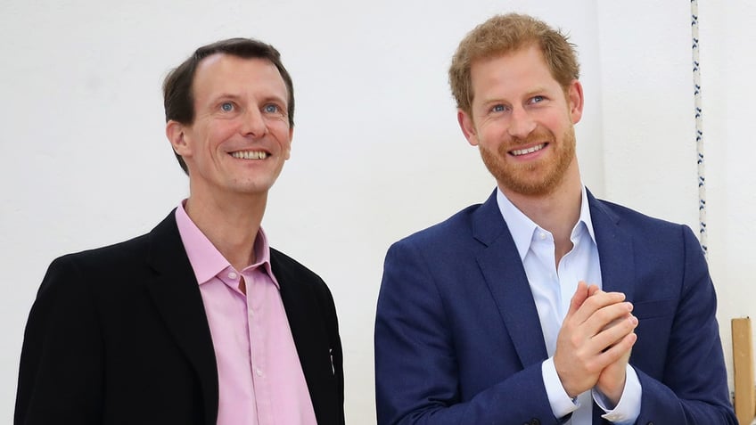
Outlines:
[[14, 423], [343, 424], [331, 293], [260, 227], [293, 134], [279, 53], [206, 45], [163, 89], [189, 198], [150, 233], [53, 261]]

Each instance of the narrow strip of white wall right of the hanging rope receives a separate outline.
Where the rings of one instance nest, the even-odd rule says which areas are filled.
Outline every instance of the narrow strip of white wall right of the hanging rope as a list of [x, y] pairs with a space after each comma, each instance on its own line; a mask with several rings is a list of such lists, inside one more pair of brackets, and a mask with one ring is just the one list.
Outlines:
[[[706, 141], [709, 263], [719, 324], [732, 371], [730, 319], [756, 316], [756, 42], [752, 2], [702, 2], [702, 84]], [[754, 328], [756, 329], [756, 328]], [[732, 388], [732, 386], [730, 387]]]

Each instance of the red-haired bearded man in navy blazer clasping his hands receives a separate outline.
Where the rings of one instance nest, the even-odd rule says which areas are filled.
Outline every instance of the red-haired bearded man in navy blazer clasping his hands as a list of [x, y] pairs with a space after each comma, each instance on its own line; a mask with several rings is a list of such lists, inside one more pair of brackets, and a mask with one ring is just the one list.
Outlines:
[[530, 16], [457, 48], [457, 119], [497, 190], [390, 247], [379, 425], [736, 423], [702, 249], [582, 184], [578, 78], [574, 46]]

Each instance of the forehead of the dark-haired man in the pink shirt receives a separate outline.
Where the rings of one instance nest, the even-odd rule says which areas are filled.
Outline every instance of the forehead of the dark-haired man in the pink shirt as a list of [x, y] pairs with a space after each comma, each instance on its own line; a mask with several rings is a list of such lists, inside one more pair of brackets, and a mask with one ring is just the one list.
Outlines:
[[220, 94], [278, 96], [285, 101], [288, 93], [273, 62], [226, 53], [211, 54], [200, 61], [192, 90], [196, 102]]

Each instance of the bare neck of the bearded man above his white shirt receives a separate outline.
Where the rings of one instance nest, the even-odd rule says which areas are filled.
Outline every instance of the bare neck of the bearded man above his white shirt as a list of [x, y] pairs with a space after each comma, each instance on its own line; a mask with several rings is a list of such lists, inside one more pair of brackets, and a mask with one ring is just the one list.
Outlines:
[[526, 195], [499, 187], [522, 214], [554, 236], [555, 262], [558, 266], [559, 260], [572, 249], [572, 229], [580, 218], [582, 184], [577, 161], [573, 162], [562, 183], [546, 194]]

